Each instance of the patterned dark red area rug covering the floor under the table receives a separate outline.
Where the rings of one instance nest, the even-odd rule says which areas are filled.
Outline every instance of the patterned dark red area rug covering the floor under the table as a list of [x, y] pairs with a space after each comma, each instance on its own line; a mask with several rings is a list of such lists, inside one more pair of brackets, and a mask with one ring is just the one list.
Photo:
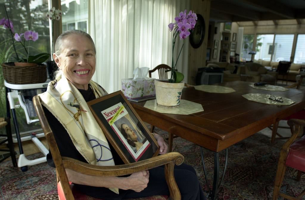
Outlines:
[[[167, 133], [156, 128], [156, 132], [167, 137]], [[217, 194], [219, 200], [270, 200], [272, 198], [277, 159], [283, 141], [277, 140], [270, 145], [270, 138], [255, 134], [228, 149], [228, 167], [224, 183]], [[185, 157], [185, 163], [194, 166], [205, 193], [206, 186], [200, 148], [182, 138], [174, 139], [174, 151]], [[213, 180], [213, 153], [204, 150], [208, 180]], [[224, 168], [224, 152], [220, 153], [221, 165]], [[34, 154], [28, 159], [41, 157]], [[46, 163], [28, 166], [27, 172], [13, 168], [11, 161], [0, 164], [0, 197], [1, 200], [52, 200], [58, 199], [55, 170]], [[222, 174], [222, 171], [221, 171]], [[298, 195], [305, 188], [305, 175], [295, 180], [297, 172], [291, 168], [286, 171], [282, 191]], [[210, 183], [212, 188], [212, 183]], [[305, 200], [305, 197], [303, 197]]]

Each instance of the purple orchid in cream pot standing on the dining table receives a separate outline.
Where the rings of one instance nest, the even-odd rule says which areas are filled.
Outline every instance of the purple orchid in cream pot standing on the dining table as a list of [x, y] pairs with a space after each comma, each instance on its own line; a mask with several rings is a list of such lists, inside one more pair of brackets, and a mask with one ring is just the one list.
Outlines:
[[170, 31], [173, 31], [172, 41], [172, 63], [171, 75], [169, 80], [155, 80], [156, 86], [156, 101], [157, 105], [163, 108], [176, 108], [180, 105], [182, 89], [184, 87], [184, 75], [176, 70], [176, 65], [181, 54], [183, 45], [179, 51], [177, 59], [174, 59], [174, 50], [176, 39], [179, 35], [180, 40], [185, 39], [190, 35], [190, 31], [195, 27], [197, 20], [196, 13], [191, 10], [186, 14], [180, 12], [179, 16], [175, 17], [175, 23], [168, 25]]

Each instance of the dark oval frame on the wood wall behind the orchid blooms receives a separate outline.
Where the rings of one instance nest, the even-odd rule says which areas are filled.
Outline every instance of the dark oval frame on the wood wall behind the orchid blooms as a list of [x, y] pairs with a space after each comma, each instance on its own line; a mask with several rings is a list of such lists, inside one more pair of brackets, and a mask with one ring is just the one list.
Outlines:
[[205, 32], [206, 32], [206, 24], [204, 22], [203, 16], [197, 14], [197, 22], [195, 27], [190, 31], [190, 44], [193, 48], [199, 48], [203, 42]]

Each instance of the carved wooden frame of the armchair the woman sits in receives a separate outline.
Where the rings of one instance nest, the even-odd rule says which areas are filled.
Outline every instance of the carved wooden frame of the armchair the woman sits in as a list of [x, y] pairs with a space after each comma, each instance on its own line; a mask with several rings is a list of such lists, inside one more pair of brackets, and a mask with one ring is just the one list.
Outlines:
[[[117, 166], [95, 166], [88, 163], [83, 163], [81, 161], [62, 157], [59, 153], [55, 138], [53, 136], [52, 130], [48, 124], [45, 117], [40, 98], [38, 96], [33, 97], [34, 108], [37, 112], [38, 118], [41, 123], [41, 127], [45, 133], [45, 137], [48, 142], [48, 146], [52, 153], [52, 157], [56, 166], [56, 172], [58, 176], [58, 194], [64, 195], [64, 198], [59, 198], [60, 200], [68, 199], [74, 200], [74, 197], [78, 199], [92, 199], [86, 195], [74, 195], [74, 191], [71, 191], [69, 180], [66, 174], [66, 169], [74, 170], [75, 172], [91, 175], [91, 176], [123, 176], [143, 170], [149, 170], [157, 166], [165, 165], [165, 178], [170, 191], [170, 199], [180, 200], [181, 195], [174, 179], [174, 166], [175, 164], [180, 165], [184, 161], [184, 157], [178, 152], [171, 152], [163, 155], [159, 155], [150, 159], [142, 160], [137, 163], [117, 165]], [[62, 188], [62, 191], [60, 191]], [[163, 197], [157, 200], [164, 199]]]

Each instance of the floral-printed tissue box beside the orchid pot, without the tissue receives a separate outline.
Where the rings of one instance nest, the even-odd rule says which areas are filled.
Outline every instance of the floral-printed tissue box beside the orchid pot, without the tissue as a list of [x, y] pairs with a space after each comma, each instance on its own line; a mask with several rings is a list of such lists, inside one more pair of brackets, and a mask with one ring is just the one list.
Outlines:
[[154, 78], [122, 79], [122, 92], [127, 99], [144, 99], [156, 96]]

